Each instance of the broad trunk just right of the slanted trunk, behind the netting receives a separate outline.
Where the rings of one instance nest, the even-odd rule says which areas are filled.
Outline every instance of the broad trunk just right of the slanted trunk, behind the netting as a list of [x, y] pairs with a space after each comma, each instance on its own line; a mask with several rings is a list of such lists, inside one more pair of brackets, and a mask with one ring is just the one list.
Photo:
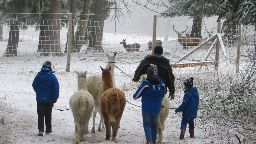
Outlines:
[[106, 0], [96, 0], [95, 1], [95, 10], [94, 10], [94, 18], [93, 22], [91, 22], [92, 30], [88, 49], [96, 50], [96, 51], [103, 51], [102, 47], [102, 37], [103, 37], [103, 27], [105, 21], [105, 7], [106, 7]]

